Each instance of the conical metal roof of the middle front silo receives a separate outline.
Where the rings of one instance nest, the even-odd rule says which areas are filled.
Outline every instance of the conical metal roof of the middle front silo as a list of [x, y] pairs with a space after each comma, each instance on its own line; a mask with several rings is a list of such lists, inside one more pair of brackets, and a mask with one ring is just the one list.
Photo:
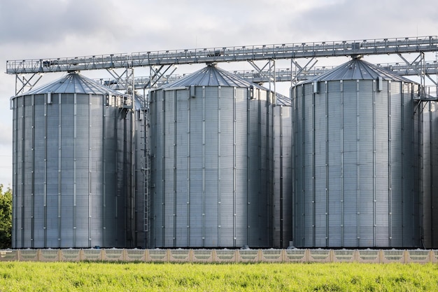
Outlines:
[[169, 83], [160, 87], [163, 88], [176, 88], [185, 86], [228, 86], [238, 88], [249, 88], [251, 85], [259, 87], [254, 83], [250, 83], [245, 79], [229, 73], [223, 69], [216, 67], [213, 64], [204, 67], [178, 81]]

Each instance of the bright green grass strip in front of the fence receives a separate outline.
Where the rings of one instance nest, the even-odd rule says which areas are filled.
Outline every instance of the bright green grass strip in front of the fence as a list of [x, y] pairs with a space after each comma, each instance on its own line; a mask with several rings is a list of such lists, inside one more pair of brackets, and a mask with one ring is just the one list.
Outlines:
[[437, 291], [438, 265], [0, 263], [0, 291]]

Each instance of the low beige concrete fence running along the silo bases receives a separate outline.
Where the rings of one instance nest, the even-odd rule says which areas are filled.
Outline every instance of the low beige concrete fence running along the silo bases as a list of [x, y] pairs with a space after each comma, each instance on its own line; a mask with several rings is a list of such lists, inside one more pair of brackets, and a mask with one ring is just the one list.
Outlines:
[[0, 261], [161, 263], [438, 263], [425, 249], [6, 249]]

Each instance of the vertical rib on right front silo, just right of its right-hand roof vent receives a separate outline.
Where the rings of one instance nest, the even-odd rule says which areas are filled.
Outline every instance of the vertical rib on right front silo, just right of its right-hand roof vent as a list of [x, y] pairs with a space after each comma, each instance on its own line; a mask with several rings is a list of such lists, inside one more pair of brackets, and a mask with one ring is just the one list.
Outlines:
[[393, 239], [393, 151], [392, 151], [392, 131], [391, 131], [391, 81], [388, 81], [388, 232], [389, 245]]

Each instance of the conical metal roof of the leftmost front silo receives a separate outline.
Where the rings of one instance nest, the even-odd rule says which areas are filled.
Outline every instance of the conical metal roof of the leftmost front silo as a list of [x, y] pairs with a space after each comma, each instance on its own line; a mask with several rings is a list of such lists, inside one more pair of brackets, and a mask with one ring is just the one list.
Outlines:
[[71, 73], [51, 83], [43, 85], [34, 90], [25, 92], [23, 95], [38, 95], [45, 93], [82, 93], [87, 95], [122, 95], [120, 92], [111, 90], [90, 78], [78, 73]]

